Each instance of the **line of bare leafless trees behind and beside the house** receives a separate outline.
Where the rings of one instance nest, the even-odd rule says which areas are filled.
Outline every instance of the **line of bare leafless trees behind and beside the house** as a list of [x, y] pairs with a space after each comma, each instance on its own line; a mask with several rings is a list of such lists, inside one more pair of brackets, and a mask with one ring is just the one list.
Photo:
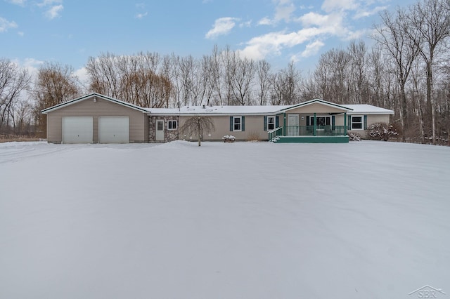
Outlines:
[[[291, 105], [321, 98], [338, 104], [371, 104], [395, 112], [404, 141], [450, 140], [450, 0], [420, 0], [380, 14], [374, 44], [351, 41], [323, 53], [302, 74], [294, 62], [275, 70], [229, 47], [210, 55], [101, 53], [89, 58], [86, 85], [70, 66], [47, 63], [34, 80], [0, 60], [0, 132], [29, 124], [45, 133], [44, 107], [97, 92], [142, 107], [185, 105]], [[24, 93], [32, 100], [23, 100]], [[20, 96], [22, 95], [22, 96]]]

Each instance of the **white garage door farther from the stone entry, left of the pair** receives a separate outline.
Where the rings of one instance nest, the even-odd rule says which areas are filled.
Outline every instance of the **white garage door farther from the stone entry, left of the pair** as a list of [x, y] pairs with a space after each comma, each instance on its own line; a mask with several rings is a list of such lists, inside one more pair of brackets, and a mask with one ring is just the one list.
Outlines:
[[63, 117], [63, 143], [92, 143], [92, 117]]

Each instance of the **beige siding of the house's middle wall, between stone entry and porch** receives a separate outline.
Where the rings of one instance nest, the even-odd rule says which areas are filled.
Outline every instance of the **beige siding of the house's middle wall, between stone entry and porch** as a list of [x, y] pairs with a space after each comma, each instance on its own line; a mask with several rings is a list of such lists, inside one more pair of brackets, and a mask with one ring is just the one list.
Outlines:
[[[234, 115], [235, 117], [245, 117], [245, 131], [230, 131], [230, 116], [212, 116], [212, 121], [216, 130], [210, 134], [205, 134], [203, 140], [217, 141], [222, 140], [224, 135], [233, 135], [238, 141], [267, 140], [267, 132], [264, 131], [264, 115]], [[181, 126], [189, 117], [180, 117]], [[280, 116], [280, 124], [283, 124], [283, 116]], [[191, 139], [192, 137], [192, 139]], [[181, 140], [196, 140], [195, 136], [180, 135]]]

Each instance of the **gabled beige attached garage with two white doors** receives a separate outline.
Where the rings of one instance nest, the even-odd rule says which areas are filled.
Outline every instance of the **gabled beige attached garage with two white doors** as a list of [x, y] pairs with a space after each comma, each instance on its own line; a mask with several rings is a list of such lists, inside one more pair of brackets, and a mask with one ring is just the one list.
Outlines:
[[148, 142], [150, 112], [128, 102], [91, 93], [41, 111], [51, 143]]

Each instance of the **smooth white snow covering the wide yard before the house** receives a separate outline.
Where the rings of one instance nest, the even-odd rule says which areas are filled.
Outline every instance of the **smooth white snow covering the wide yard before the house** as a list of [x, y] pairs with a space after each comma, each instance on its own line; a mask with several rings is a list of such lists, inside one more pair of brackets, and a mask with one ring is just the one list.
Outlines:
[[450, 148], [0, 144], [0, 298], [450, 298]]

